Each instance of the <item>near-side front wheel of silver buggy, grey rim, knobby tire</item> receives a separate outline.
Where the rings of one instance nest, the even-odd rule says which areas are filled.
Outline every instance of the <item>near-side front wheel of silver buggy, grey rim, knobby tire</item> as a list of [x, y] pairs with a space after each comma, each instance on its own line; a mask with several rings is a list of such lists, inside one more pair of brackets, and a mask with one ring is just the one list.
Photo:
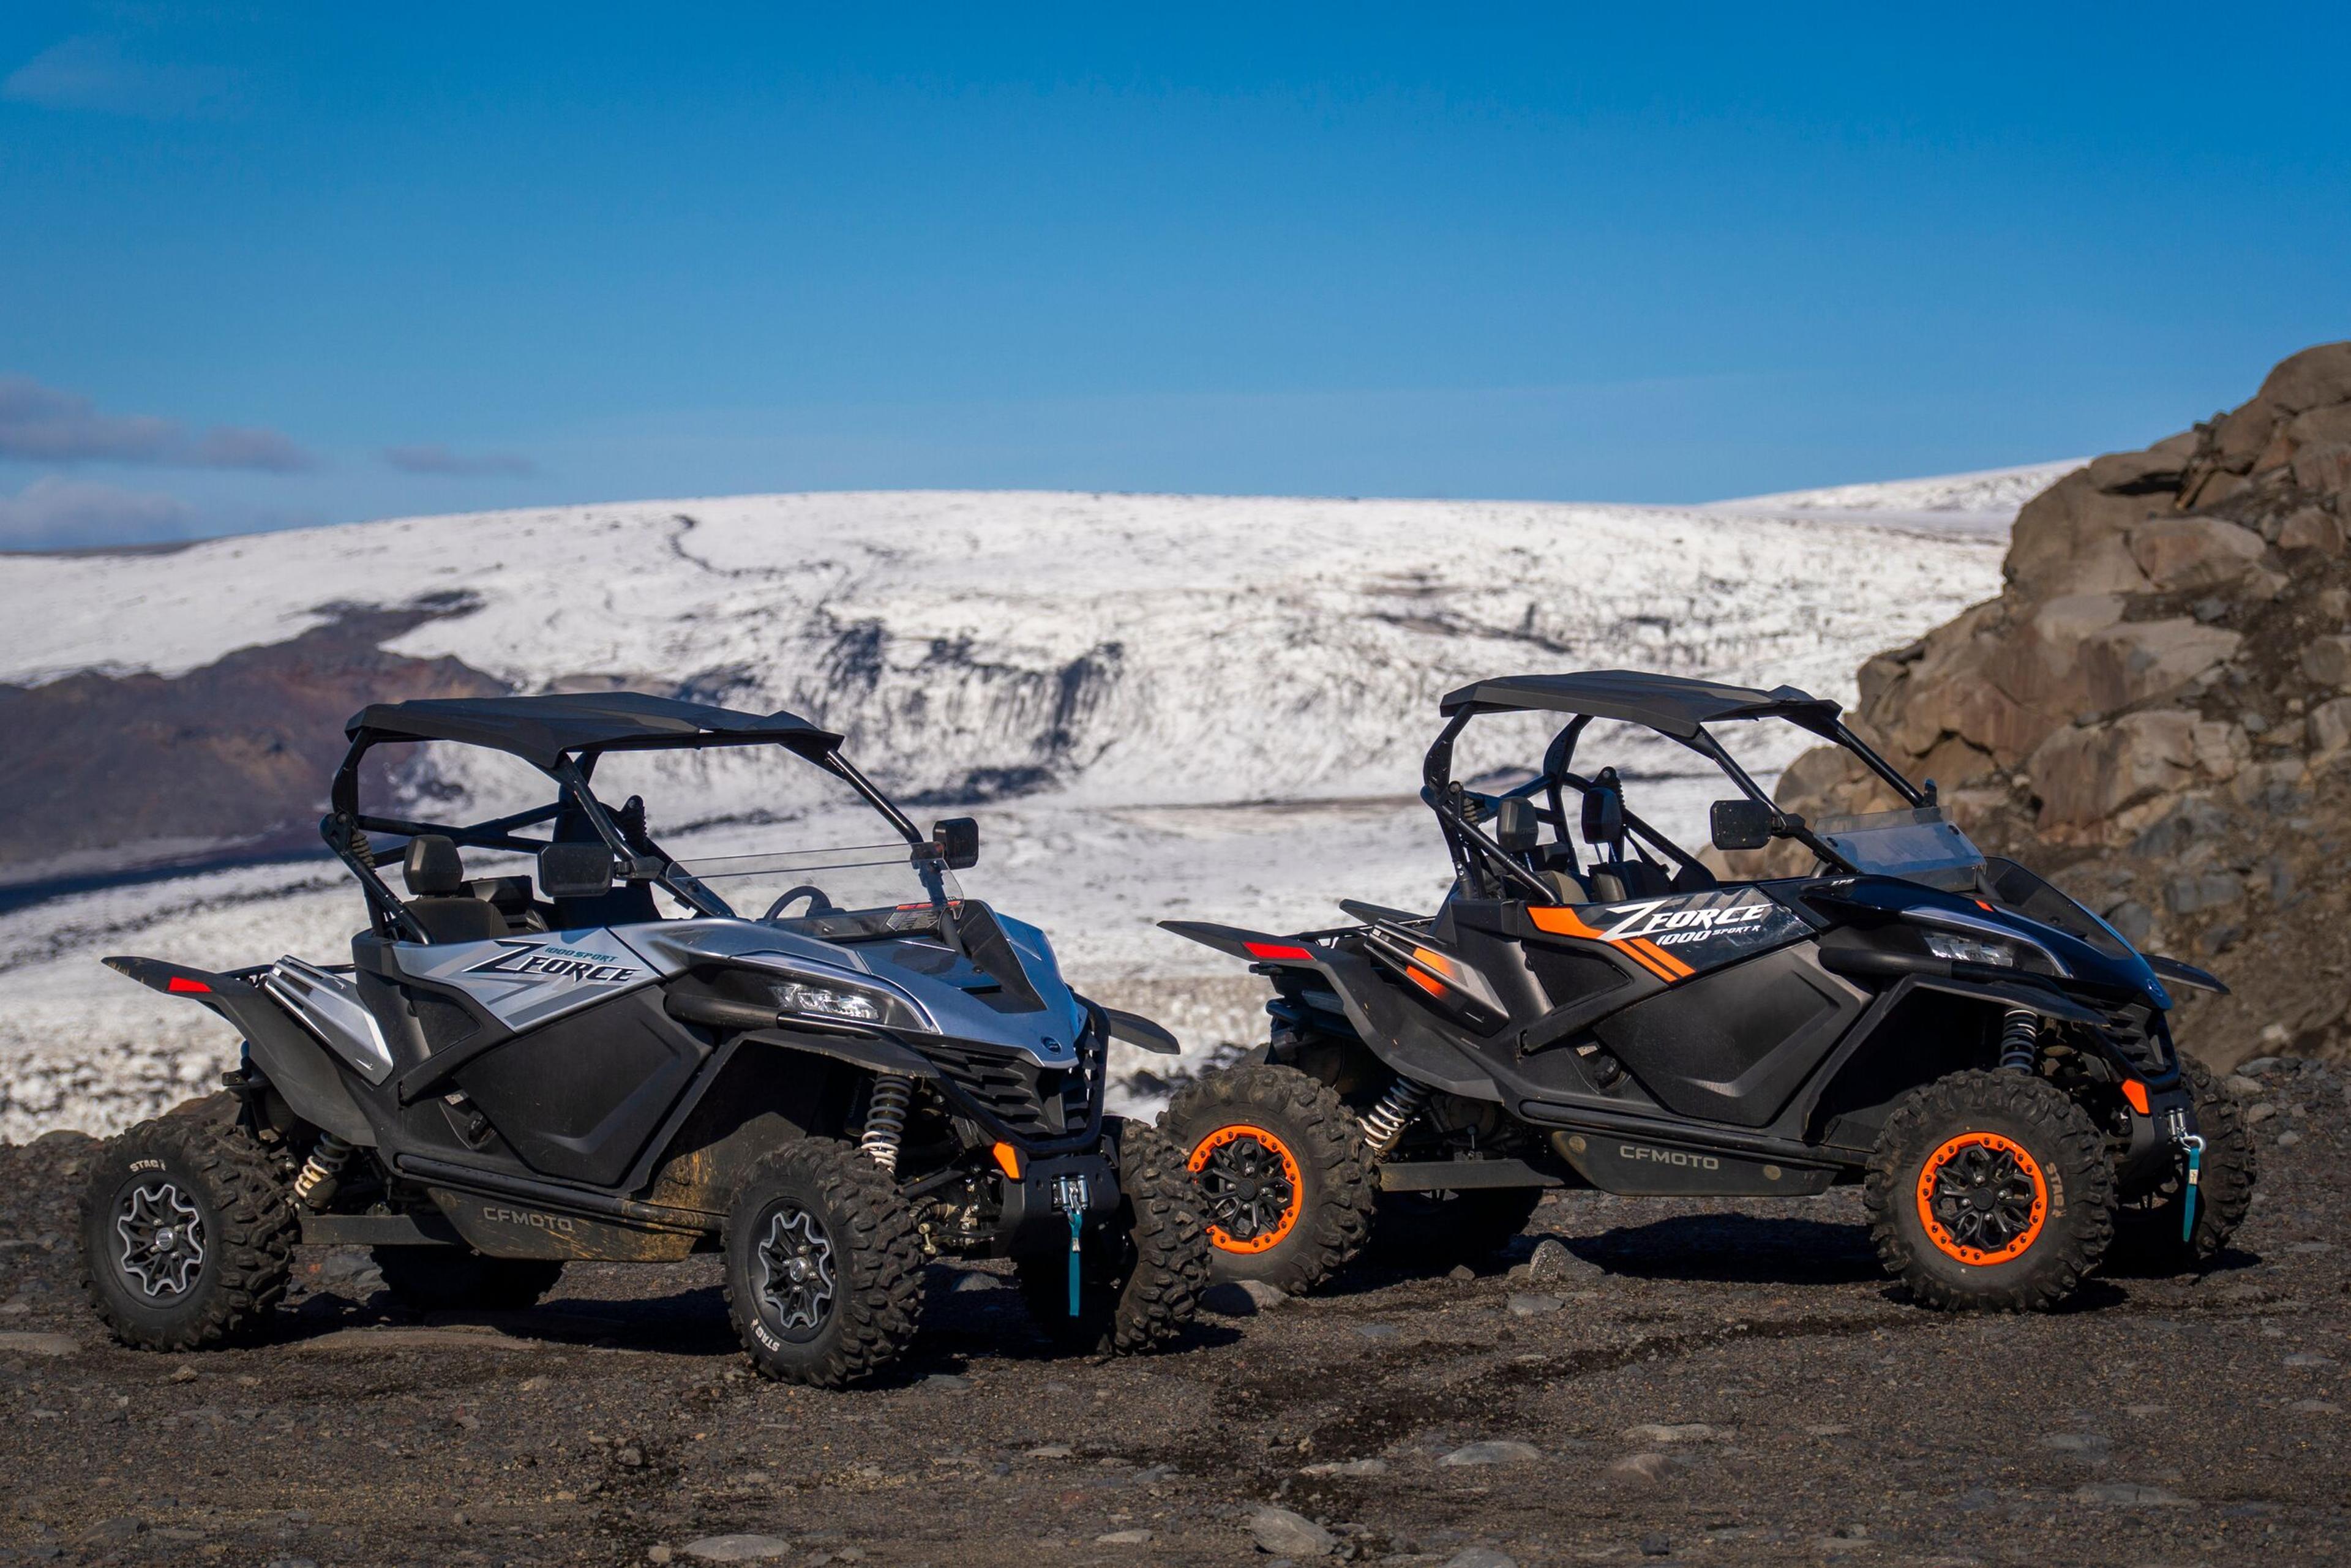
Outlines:
[[792, 1138], [726, 1204], [726, 1314], [752, 1366], [842, 1389], [905, 1354], [922, 1326], [922, 1241], [898, 1185], [830, 1138]]

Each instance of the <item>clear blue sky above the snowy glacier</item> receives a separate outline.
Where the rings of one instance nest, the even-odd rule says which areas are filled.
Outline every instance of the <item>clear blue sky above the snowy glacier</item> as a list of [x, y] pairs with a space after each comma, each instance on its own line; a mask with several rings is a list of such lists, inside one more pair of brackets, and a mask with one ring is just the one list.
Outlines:
[[2346, 45], [2339, 5], [14, 0], [0, 543], [2142, 444], [2351, 336]]

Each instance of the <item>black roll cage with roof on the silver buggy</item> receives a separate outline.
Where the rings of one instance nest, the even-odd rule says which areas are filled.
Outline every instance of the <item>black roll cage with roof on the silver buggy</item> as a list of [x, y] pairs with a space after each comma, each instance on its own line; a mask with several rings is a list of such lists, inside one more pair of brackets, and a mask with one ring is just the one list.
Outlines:
[[[611, 851], [614, 870], [623, 882], [656, 884], [701, 914], [724, 917], [729, 910], [647, 835], [642, 820], [621, 820], [597, 799], [590, 780], [604, 752], [781, 745], [856, 790], [915, 853], [933, 849], [931, 839], [856, 764], [842, 757], [842, 736], [792, 712], [750, 715], [630, 691], [430, 698], [369, 705], [353, 715], [343, 733], [350, 738], [350, 750], [343, 752], [343, 764], [327, 790], [320, 837], [357, 877], [374, 933], [390, 940], [426, 940], [426, 931], [379, 872], [381, 856], [397, 846], [379, 849], [367, 837], [371, 832], [397, 835], [402, 842], [433, 832], [458, 849], [536, 856], [555, 844], [555, 835], [564, 827], [576, 832], [583, 825]], [[465, 825], [362, 811], [360, 764], [364, 757], [379, 745], [423, 741], [480, 745], [520, 757], [548, 776], [555, 785], [555, 799]], [[567, 813], [571, 813], [569, 820]], [[520, 830], [538, 825], [552, 825], [550, 837], [522, 837]]]

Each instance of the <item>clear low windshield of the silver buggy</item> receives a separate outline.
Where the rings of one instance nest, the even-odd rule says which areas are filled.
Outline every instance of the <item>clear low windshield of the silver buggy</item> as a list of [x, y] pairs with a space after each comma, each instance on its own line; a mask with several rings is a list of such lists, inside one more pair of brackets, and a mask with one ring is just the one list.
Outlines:
[[682, 858], [684, 877], [738, 919], [842, 936], [844, 929], [926, 931], [962, 898], [931, 844], [844, 844], [762, 856]]

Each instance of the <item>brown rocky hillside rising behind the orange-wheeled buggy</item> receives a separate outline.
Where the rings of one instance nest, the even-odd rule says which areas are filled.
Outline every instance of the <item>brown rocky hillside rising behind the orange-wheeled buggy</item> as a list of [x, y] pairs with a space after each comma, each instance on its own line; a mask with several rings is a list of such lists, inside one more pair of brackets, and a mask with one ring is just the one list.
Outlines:
[[[2017, 515], [2005, 588], [1860, 672], [1857, 726], [1994, 853], [2215, 969], [2182, 1044], [2342, 1056], [2351, 1001], [2351, 343]], [[1846, 757], [1780, 780], [1874, 809]]]

